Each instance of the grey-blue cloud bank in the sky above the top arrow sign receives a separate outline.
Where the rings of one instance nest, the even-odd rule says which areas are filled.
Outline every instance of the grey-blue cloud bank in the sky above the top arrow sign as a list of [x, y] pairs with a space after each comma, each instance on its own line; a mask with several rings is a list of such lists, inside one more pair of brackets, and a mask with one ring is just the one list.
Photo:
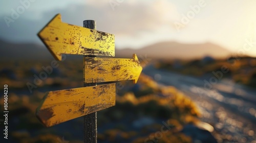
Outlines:
[[172, 17], [177, 15], [175, 6], [167, 0], [147, 3], [116, 1], [122, 3], [115, 6], [114, 10], [109, 2], [87, 1], [87, 4], [62, 4], [62, 7], [48, 11], [37, 11], [36, 5], [31, 5], [29, 12], [20, 14], [18, 19], [10, 23], [9, 28], [3, 20], [4, 15], [0, 17], [2, 19], [0, 37], [17, 42], [38, 42], [37, 32], [57, 13], [61, 13], [62, 21], [66, 23], [82, 26], [83, 20], [93, 19], [97, 22], [97, 30], [113, 33], [117, 37], [138, 37], [140, 33], [154, 33], [163, 25], [170, 25]]

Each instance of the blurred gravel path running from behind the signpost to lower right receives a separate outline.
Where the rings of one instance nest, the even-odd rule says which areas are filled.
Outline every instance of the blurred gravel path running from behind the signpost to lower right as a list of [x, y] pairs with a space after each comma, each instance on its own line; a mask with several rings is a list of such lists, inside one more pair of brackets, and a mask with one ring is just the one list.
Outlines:
[[[212, 134], [218, 142], [256, 143], [256, 90], [221, 79], [205, 89], [204, 80], [149, 65], [143, 73], [159, 84], [172, 85], [197, 103], [202, 112], [201, 120], [215, 128]], [[157, 77], [157, 78], [156, 78]]]

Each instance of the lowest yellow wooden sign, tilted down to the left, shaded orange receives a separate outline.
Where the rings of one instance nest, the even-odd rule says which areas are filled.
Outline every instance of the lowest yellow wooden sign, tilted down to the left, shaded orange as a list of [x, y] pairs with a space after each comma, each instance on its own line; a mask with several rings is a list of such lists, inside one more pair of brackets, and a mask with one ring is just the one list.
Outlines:
[[50, 91], [36, 109], [36, 116], [51, 127], [114, 106], [115, 100], [115, 83]]

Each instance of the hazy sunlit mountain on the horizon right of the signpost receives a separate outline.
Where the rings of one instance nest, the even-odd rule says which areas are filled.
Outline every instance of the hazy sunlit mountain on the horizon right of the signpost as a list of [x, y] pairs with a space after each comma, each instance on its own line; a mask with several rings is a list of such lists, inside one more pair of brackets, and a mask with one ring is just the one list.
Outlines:
[[116, 56], [131, 58], [131, 55], [134, 53], [136, 53], [138, 57], [141, 55], [156, 59], [195, 59], [205, 56], [226, 58], [231, 55], [230, 51], [212, 43], [183, 44], [178, 42], [160, 42], [138, 50], [117, 50]]

